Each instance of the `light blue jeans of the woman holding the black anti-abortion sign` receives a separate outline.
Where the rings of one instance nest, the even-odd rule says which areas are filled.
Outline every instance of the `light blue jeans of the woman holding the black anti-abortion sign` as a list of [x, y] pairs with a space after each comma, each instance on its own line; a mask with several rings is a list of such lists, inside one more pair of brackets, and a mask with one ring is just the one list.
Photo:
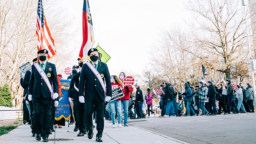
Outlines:
[[111, 119], [112, 124], [115, 124], [115, 108], [117, 108], [118, 113], [118, 124], [121, 124], [121, 101], [110, 101], [110, 107], [111, 107]]

